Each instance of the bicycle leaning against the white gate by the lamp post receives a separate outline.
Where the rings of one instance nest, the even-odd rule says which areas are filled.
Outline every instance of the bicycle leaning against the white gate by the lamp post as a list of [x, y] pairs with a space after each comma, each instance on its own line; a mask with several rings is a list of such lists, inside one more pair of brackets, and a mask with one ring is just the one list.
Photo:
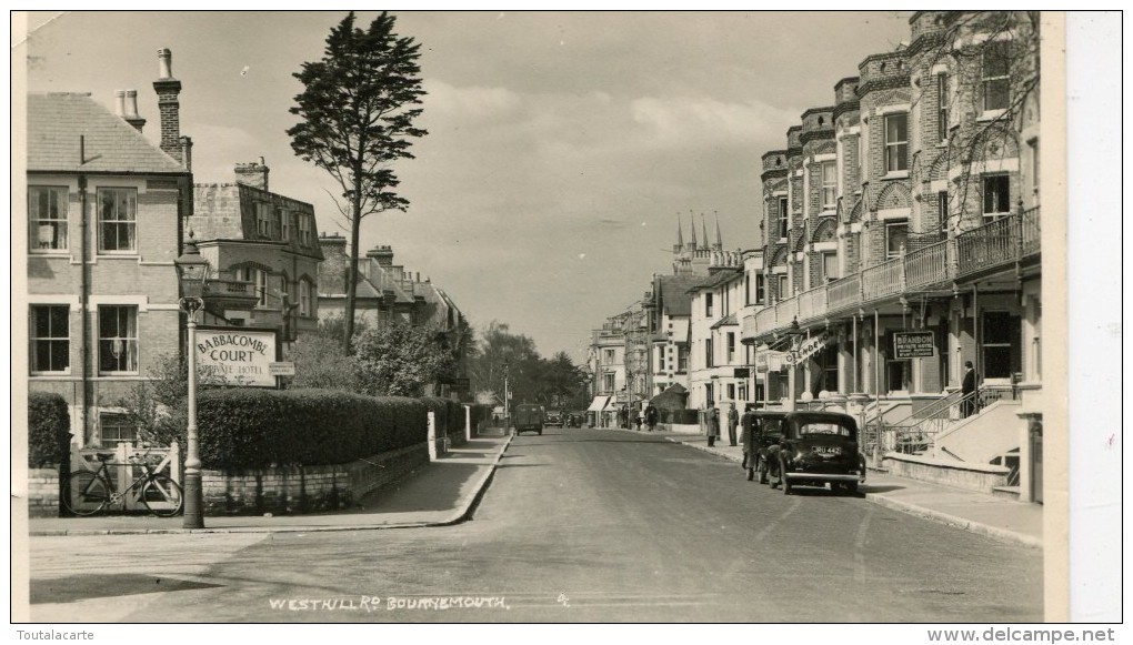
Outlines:
[[142, 455], [131, 455], [129, 459], [140, 465], [145, 472], [138, 475], [126, 490], [114, 491], [113, 480], [110, 478], [110, 466], [107, 463], [114, 457], [113, 453], [97, 453], [99, 470], [75, 471], [70, 473], [67, 481], [67, 494], [63, 496], [63, 506], [67, 510], [79, 516], [94, 515], [108, 505], [123, 505], [126, 493], [138, 489], [142, 504], [150, 513], [157, 517], [173, 517], [181, 511], [185, 504], [185, 496], [181, 487], [164, 473], [153, 470], [142, 457], [148, 455], [146, 450]]

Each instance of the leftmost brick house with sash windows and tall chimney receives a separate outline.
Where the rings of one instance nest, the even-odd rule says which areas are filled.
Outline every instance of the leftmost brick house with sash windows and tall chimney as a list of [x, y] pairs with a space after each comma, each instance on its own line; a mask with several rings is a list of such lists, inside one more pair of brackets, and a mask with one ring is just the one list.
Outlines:
[[67, 401], [80, 446], [133, 439], [120, 401], [180, 351], [173, 260], [193, 213], [191, 141], [169, 50], [159, 61], [159, 145], [134, 91], [116, 93], [117, 114], [90, 94], [27, 98], [28, 387]]

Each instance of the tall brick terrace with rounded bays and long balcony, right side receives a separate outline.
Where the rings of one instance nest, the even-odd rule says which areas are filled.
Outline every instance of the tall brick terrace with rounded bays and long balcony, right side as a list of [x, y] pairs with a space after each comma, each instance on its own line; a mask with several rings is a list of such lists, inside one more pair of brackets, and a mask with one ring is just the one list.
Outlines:
[[[770, 401], [857, 397], [874, 419], [947, 414], [971, 361], [981, 401], [1000, 401], [943, 449], [1025, 471], [1020, 416], [1041, 419], [1037, 23], [919, 11], [910, 26], [763, 155], [767, 301], [746, 308], [742, 337], [761, 364], [799, 350], [795, 392], [768, 378]], [[913, 337], [915, 355], [898, 349]]]

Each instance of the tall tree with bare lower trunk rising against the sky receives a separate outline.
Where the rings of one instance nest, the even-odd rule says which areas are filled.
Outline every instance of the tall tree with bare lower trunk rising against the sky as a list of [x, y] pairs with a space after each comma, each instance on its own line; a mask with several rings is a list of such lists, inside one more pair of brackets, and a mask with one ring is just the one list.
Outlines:
[[288, 130], [291, 148], [339, 183], [335, 204], [350, 226], [346, 353], [353, 336], [361, 221], [408, 208], [409, 200], [394, 191], [400, 182], [392, 164], [412, 158], [410, 138], [427, 134], [414, 127], [421, 110], [412, 105], [425, 94], [418, 77], [420, 45], [398, 36], [393, 26], [393, 16], [383, 11], [363, 31], [351, 11], [331, 29], [322, 60], [305, 62], [295, 74], [305, 89], [290, 110], [303, 119]]

